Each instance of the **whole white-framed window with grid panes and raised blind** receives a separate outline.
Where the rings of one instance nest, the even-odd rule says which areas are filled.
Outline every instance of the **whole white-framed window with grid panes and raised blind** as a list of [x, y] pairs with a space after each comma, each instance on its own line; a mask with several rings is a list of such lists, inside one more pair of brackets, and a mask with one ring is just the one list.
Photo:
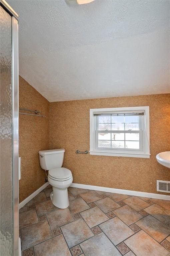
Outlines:
[[90, 109], [90, 154], [149, 158], [149, 107]]

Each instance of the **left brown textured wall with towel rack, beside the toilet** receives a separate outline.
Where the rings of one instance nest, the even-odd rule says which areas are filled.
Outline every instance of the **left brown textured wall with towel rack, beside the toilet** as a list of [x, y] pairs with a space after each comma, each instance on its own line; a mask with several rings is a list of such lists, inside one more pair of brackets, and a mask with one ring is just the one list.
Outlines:
[[44, 184], [45, 172], [40, 167], [38, 151], [49, 149], [50, 104], [19, 76], [19, 107], [40, 110], [46, 116], [19, 114], [19, 155], [21, 156], [19, 201], [21, 202]]

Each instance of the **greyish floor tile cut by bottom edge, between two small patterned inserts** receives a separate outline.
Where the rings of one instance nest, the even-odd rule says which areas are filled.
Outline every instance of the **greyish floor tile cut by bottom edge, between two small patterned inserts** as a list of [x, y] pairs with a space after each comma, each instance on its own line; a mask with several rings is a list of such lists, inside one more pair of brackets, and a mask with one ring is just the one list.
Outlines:
[[116, 247], [102, 232], [80, 244], [86, 256], [120, 256]]

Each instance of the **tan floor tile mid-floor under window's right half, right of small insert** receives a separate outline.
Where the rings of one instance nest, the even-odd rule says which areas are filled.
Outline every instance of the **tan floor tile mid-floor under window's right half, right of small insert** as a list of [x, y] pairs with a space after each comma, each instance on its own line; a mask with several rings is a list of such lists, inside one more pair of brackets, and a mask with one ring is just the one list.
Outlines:
[[123, 222], [125, 222], [128, 226], [143, 218], [143, 216], [140, 213], [132, 209], [129, 205], [124, 205], [114, 210], [113, 213], [116, 216], [118, 216]]

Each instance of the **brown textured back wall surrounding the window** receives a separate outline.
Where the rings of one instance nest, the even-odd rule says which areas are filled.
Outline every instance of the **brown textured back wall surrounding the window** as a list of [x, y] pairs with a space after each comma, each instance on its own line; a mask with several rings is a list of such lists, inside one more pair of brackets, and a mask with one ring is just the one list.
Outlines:
[[[90, 108], [134, 106], [150, 107], [150, 159], [75, 154], [89, 150]], [[55, 148], [65, 148], [63, 166], [74, 183], [160, 193], [156, 180], [170, 181], [169, 169], [155, 158], [170, 150], [170, 94], [52, 102], [50, 149]]]

